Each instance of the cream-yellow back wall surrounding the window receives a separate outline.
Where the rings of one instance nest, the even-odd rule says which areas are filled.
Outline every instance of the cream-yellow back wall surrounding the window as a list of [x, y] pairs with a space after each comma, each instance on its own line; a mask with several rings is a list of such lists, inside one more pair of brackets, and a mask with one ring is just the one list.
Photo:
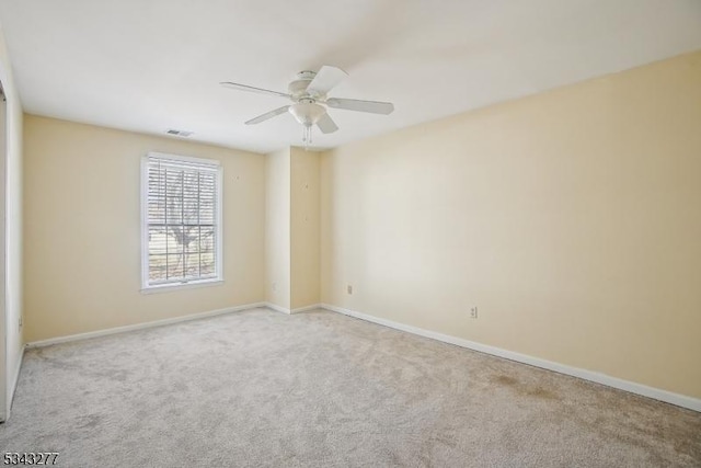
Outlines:
[[[31, 115], [24, 130], [28, 342], [264, 300], [263, 155]], [[221, 161], [223, 285], [139, 292], [148, 151]]]

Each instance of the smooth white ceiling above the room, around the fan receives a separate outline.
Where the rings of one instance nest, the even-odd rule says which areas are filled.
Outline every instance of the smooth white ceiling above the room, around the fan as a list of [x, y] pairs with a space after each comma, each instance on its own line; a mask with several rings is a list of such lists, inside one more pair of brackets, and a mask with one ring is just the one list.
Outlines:
[[0, 0], [0, 24], [28, 113], [260, 152], [301, 126], [243, 125], [287, 102], [220, 81], [333, 65], [330, 95], [394, 103], [330, 110], [327, 148], [701, 48], [699, 0]]

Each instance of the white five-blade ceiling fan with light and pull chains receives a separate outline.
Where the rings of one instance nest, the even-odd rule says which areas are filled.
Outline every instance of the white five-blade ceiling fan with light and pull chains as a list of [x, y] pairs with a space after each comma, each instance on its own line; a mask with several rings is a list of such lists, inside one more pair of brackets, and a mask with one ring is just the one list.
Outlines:
[[317, 125], [324, 134], [332, 134], [338, 129], [335, 122], [326, 113], [326, 107], [345, 109], [347, 111], [369, 112], [371, 114], [391, 114], [394, 105], [389, 102], [360, 101], [355, 99], [329, 98], [326, 94], [336, 84], [343, 81], [348, 73], [340, 68], [324, 65], [319, 72], [300, 71], [297, 79], [289, 83], [288, 92], [271, 91], [262, 88], [249, 87], [246, 84], [223, 81], [220, 84], [240, 91], [249, 91], [260, 94], [287, 98], [292, 104], [284, 105], [274, 111], [266, 112], [257, 117], [251, 118], [245, 124], [254, 125], [273, 118], [276, 115], [289, 112], [297, 122], [302, 124], [302, 141], [308, 147], [311, 144], [311, 129]]

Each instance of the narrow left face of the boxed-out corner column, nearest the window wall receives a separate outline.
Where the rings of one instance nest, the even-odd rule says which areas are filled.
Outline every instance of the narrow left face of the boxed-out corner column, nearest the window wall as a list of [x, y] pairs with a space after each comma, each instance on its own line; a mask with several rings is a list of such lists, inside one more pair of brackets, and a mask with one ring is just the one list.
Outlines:
[[265, 297], [291, 307], [290, 149], [265, 156]]

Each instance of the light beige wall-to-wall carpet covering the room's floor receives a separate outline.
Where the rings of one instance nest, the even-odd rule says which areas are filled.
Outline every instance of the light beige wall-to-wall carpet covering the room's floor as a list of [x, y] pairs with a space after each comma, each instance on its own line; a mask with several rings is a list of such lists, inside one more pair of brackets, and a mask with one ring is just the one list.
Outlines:
[[701, 414], [256, 309], [27, 351], [0, 449], [62, 467], [700, 467]]

